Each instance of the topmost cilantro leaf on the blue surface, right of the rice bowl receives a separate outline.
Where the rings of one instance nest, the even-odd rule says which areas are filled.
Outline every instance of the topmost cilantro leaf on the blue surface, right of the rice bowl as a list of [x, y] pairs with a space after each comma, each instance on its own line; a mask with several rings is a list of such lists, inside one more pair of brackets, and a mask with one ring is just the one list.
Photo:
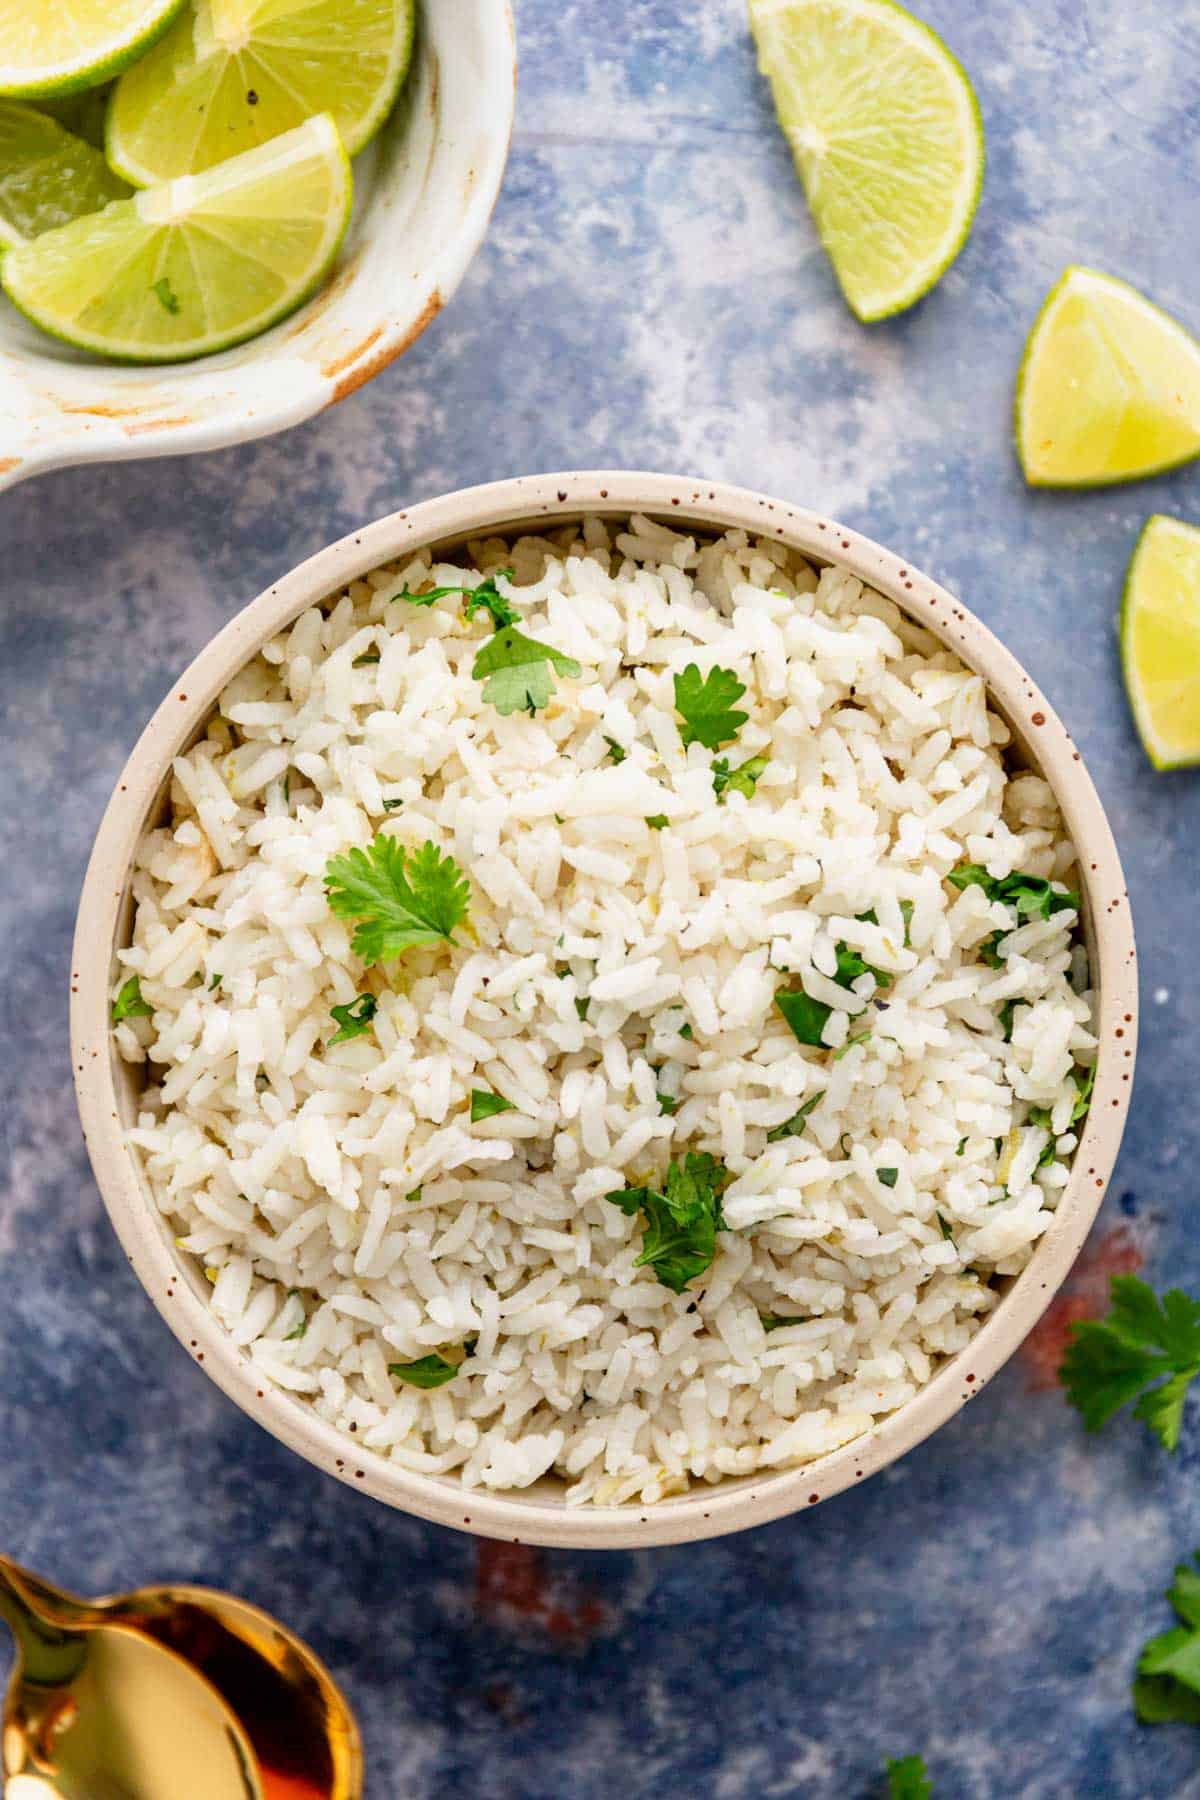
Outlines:
[[[1171, 1287], [1157, 1298], [1133, 1274], [1114, 1274], [1112, 1310], [1072, 1327], [1058, 1379], [1088, 1431], [1137, 1400], [1133, 1415], [1164, 1449], [1178, 1444], [1187, 1388], [1200, 1375], [1200, 1301]], [[1159, 1386], [1150, 1386], [1159, 1382]], [[1141, 1395], [1141, 1399], [1137, 1399]]]

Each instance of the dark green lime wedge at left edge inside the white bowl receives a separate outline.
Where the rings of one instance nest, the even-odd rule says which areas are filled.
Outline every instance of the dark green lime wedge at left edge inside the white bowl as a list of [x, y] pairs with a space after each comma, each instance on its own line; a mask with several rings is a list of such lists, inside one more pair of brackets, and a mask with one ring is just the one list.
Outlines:
[[128, 193], [92, 144], [32, 106], [0, 101], [0, 248], [99, 212]]

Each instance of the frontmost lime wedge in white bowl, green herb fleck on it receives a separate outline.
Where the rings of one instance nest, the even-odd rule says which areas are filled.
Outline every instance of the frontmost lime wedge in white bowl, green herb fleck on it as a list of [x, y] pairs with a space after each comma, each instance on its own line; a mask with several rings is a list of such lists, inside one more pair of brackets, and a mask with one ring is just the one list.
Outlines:
[[7, 250], [0, 283], [34, 324], [81, 349], [207, 356], [308, 299], [338, 254], [351, 198], [338, 128], [320, 113]]

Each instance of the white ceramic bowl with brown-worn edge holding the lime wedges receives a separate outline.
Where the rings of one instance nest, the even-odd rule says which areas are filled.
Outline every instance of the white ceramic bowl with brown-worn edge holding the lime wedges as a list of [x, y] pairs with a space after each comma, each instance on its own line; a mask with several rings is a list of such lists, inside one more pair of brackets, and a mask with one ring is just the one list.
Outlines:
[[515, 79], [507, 0], [419, 4], [405, 92], [354, 160], [354, 216], [331, 279], [248, 344], [128, 367], [56, 344], [0, 301], [0, 488], [72, 463], [264, 437], [401, 356], [488, 230]]

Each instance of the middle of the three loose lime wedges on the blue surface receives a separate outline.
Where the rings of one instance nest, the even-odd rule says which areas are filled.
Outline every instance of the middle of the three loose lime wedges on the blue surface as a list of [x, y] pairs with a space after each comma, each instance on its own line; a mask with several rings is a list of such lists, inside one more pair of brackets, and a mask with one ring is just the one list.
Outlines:
[[1016, 378], [1016, 450], [1040, 488], [1159, 475], [1200, 455], [1200, 344], [1094, 268], [1069, 268]]

